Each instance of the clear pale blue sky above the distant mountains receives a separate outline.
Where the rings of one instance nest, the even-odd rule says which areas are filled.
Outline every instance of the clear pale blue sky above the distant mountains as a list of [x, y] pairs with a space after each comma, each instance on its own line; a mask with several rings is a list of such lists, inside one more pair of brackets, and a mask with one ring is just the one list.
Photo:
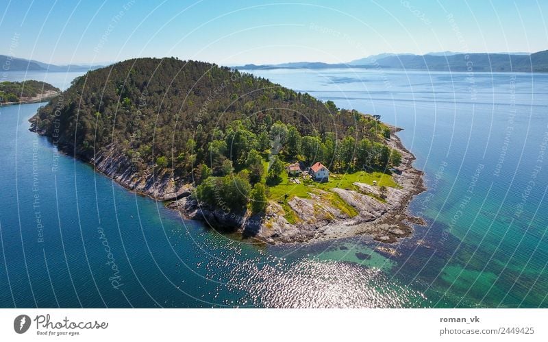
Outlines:
[[548, 1], [0, 0], [0, 54], [53, 64], [223, 65], [548, 49]]

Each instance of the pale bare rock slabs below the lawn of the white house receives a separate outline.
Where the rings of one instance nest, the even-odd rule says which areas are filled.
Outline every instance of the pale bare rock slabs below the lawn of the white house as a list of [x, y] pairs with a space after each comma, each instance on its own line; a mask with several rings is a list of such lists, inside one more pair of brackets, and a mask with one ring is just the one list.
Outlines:
[[[412, 197], [425, 190], [423, 173], [412, 167], [414, 156], [401, 145], [397, 136], [390, 138], [390, 146], [401, 152], [402, 164], [395, 169], [393, 178], [397, 188], [381, 187], [356, 182], [358, 191], [332, 188], [346, 204], [357, 212], [348, 217], [340, 208], [334, 208], [327, 191], [316, 189], [308, 198], [293, 197], [287, 205], [295, 212], [295, 222], [289, 223], [279, 204], [271, 203], [261, 225], [258, 239], [267, 243], [316, 242], [367, 234], [375, 241], [390, 244], [412, 234], [412, 224], [423, 219], [409, 215], [407, 206]], [[393, 249], [382, 249], [395, 254]]]

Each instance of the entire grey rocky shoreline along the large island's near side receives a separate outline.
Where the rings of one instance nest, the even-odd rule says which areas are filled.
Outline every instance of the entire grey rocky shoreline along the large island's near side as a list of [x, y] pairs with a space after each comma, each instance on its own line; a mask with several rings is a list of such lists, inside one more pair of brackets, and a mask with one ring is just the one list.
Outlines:
[[168, 208], [177, 210], [184, 219], [203, 221], [209, 228], [223, 232], [239, 232], [243, 238], [269, 244], [314, 243], [366, 234], [375, 241], [389, 244], [410, 236], [413, 224], [424, 224], [420, 217], [410, 215], [408, 204], [415, 195], [425, 191], [423, 172], [412, 167], [415, 157], [403, 147], [396, 135], [400, 129], [391, 128], [388, 145], [397, 149], [402, 156], [400, 166], [393, 173], [395, 182], [401, 188], [387, 187], [384, 201], [379, 199], [378, 186], [356, 182], [354, 185], [358, 190], [330, 189], [358, 212], [354, 217], [349, 217], [325, 201], [329, 192], [311, 188], [310, 198], [293, 197], [287, 202], [297, 215], [295, 223], [287, 221], [284, 208], [274, 201], [269, 203], [262, 215], [249, 215], [248, 210], [223, 212], [220, 208], [203, 206], [190, 196], [193, 186], [188, 180], [175, 178], [169, 169], [136, 173], [132, 161], [112, 146], [93, 158], [79, 156], [68, 146], [59, 145], [58, 148], [90, 162], [96, 171], [129, 191], [164, 201]]

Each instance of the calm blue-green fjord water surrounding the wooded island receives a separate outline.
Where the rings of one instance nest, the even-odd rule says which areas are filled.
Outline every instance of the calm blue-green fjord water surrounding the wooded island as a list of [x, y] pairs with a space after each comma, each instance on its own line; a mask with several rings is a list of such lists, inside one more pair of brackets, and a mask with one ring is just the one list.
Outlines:
[[395, 255], [366, 236], [238, 241], [56, 154], [28, 131], [39, 104], [2, 107], [0, 306], [548, 306], [547, 75], [252, 73], [403, 127], [427, 225]]

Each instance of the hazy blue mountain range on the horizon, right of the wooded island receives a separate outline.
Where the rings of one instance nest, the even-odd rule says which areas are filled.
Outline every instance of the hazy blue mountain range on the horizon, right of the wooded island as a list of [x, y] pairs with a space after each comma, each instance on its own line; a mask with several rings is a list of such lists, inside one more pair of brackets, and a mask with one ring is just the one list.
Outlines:
[[536, 53], [459, 53], [444, 51], [413, 55], [382, 53], [347, 63], [295, 62], [284, 64], [234, 66], [238, 70], [252, 69], [405, 69], [428, 71], [514, 71], [548, 72], [548, 50]]

